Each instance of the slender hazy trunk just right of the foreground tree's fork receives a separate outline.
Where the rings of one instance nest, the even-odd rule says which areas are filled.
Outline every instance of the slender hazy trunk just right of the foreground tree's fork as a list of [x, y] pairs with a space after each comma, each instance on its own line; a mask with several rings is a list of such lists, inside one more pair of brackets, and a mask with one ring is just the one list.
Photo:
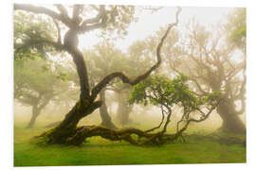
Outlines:
[[109, 128], [117, 128], [113, 122], [111, 121], [111, 117], [107, 111], [107, 106], [105, 102], [105, 90], [102, 89], [100, 93], [101, 97], [101, 108], [100, 108], [100, 113], [101, 113], [101, 125]]

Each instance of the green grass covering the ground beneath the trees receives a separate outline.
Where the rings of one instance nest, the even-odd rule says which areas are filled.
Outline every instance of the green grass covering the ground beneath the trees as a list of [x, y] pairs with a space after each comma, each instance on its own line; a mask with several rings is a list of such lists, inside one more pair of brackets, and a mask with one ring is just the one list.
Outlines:
[[14, 166], [172, 164], [246, 162], [246, 147], [209, 140], [162, 146], [135, 146], [93, 137], [82, 146], [38, 146], [29, 141], [46, 128], [14, 127]]

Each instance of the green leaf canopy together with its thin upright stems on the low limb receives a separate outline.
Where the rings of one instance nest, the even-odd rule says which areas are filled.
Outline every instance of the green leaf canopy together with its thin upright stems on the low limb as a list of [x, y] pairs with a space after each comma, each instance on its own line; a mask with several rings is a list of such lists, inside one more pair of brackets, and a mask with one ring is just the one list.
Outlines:
[[[161, 109], [162, 120], [159, 126], [148, 129], [146, 132], [161, 127], [164, 117], [167, 115], [165, 125], [160, 134], [165, 133], [168, 124], [171, 122], [171, 116], [175, 106], [183, 109], [182, 116], [176, 124], [175, 133], [175, 136], [182, 137], [182, 132], [187, 129], [191, 122], [199, 123], [205, 121], [212, 110], [218, 106], [219, 93], [214, 92], [204, 96], [197, 96], [186, 84], [187, 80], [188, 77], [184, 75], [179, 75], [174, 79], [169, 79], [165, 76], [149, 76], [134, 87], [130, 98], [131, 104], [143, 103], [146, 106], [148, 103], [151, 103]], [[197, 115], [200, 118], [193, 118]], [[185, 125], [179, 128], [179, 124], [182, 122]]]

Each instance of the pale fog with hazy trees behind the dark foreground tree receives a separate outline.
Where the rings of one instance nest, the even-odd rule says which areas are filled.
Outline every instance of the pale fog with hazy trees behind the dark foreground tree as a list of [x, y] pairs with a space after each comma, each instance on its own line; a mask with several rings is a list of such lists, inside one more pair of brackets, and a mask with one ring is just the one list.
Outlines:
[[[56, 10], [55, 7], [45, 7]], [[71, 7], [66, 7], [68, 15], [71, 15]], [[90, 8], [92, 11], [93, 9]], [[238, 12], [237, 15], [239, 15], [240, 10], [242, 11], [243, 8], [182, 8], [177, 26], [171, 29], [166, 41], [163, 42], [162, 63], [152, 76], [164, 76], [172, 80], [184, 74], [189, 77], [184, 84], [189, 87], [186, 90], [191, 93], [189, 96], [195, 93], [194, 97], [200, 98], [206, 93], [219, 92], [225, 98], [226, 103], [224, 100], [221, 101], [222, 108], [213, 110], [205, 121], [192, 123], [187, 130], [190, 133], [210, 133], [224, 125], [231, 130], [235, 125], [228, 123], [227, 117], [230, 114], [238, 117], [237, 123], [242, 120], [241, 125], [246, 126], [244, 83], [246, 81], [246, 37], [239, 40], [230, 38], [233, 36], [230, 32], [234, 31], [236, 26], [234, 20], [237, 19], [231, 18], [232, 12]], [[119, 19], [123, 21], [117, 21], [123, 22], [124, 25], [117, 24], [109, 30], [95, 29], [79, 35], [78, 49], [82, 51], [86, 63], [90, 90], [111, 73], [122, 72], [135, 78], [155, 64], [156, 47], [168, 24], [176, 21], [177, 9], [136, 7], [134, 16], [128, 13], [132, 11], [133, 9], [126, 8], [127, 16]], [[27, 18], [23, 17], [26, 15]], [[95, 17], [96, 15], [88, 12], [83, 16]], [[65, 41], [64, 35], [67, 34], [68, 29], [64, 25], [68, 24], [61, 22], [56, 24], [46, 15], [37, 17], [28, 12], [15, 11], [14, 43], [27, 41], [25, 33], [19, 31], [26, 30], [31, 23], [34, 26], [31, 35], [42, 34], [40, 38], [51, 36], [52, 39], [58, 38], [60, 42]], [[23, 29], [22, 26], [24, 26]], [[119, 31], [112, 30], [115, 28]], [[27, 29], [28, 33], [29, 31], [30, 29]], [[29, 39], [32, 40], [32, 37]], [[18, 45], [22, 44], [17, 44], [16, 51], [20, 50]], [[28, 53], [15, 51], [14, 54], [14, 127], [26, 127], [29, 121], [31, 123], [30, 119], [34, 113], [36, 118], [31, 123], [34, 127], [46, 127], [55, 122], [58, 125], [64, 120], [65, 114], [78, 105], [77, 102], [82, 93], [80, 91], [82, 91], [84, 79], [81, 80], [82, 76], [78, 75], [79, 63], [75, 59], [73, 62], [72, 53], [54, 51], [45, 46], [40, 50], [37, 48], [34, 47]], [[42, 53], [42, 50], [46, 51]], [[23, 56], [24, 60], [21, 56], [16, 59], [15, 55]], [[166, 110], [163, 110], [159, 103], [155, 104], [151, 99], [146, 99], [146, 96], [144, 105], [141, 103], [143, 98], [135, 98], [133, 103], [129, 102], [133, 99], [133, 93], [137, 88], [130, 85], [126, 87], [127, 84], [125, 85], [120, 79], [115, 78], [109, 81], [101, 90], [103, 94], [100, 96], [98, 93], [96, 97], [105, 104], [102, 110], [109, 115], [113, 124], [119, 128], [141, 129], [158, 126], [162, 112]], [[148, 89], [145, 93], [155, 94]], [[182, 101], [169, 103], [172, 116], [168, 131], [174, 132], [178, 121], [183, 119], [183, 111], [187, 107], [184, 103]], [[208, 105], [213, 106], [212, 103], [202, 104], [200, 106], [202, 108], [192, 110], [190, 116], [199, 119], [200, 111], [210, 110]], [[102, 115], [101, 110], [94, 110], [79, 121], [79, 126], [103, 125]], [[204, 113], [203, 115], [205, 116]], [[227, 125], [223, 121], [227, 121]], [[33, 127], [30, 123], [27, 127]]]

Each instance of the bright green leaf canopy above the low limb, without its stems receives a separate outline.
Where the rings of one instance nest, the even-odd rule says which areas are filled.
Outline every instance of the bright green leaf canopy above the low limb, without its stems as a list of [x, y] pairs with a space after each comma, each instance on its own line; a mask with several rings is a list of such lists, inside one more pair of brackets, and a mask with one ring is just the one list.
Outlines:
[[209, 93], [204, 97], [196, 96], [186, 81], [188, 76], [180, 75], [174, 79], [165, 76], [150, 76], [134, 87], [130, 103], [151, 103], [160, 107], [181, 105], [184, 108], [195, 110], [200, 105], [214, 102], [218, 93]]

